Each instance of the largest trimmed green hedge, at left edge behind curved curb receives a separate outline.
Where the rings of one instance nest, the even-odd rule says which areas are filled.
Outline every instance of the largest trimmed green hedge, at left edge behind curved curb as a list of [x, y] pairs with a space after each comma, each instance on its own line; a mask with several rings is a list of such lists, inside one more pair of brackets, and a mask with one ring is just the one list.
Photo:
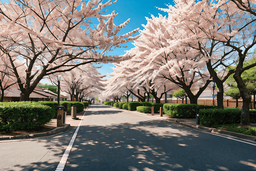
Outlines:
[[53, 109], [37, 102], [0, 103], [0, 130], [34, 129], [49, 123]]

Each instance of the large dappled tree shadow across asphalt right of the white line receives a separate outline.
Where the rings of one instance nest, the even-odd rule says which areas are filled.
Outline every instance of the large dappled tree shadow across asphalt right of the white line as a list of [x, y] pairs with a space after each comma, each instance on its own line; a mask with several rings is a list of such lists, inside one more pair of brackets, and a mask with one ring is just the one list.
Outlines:
[[81, 126], [65, 170], [256, 169], [255, 146], [230, 141], [161, 120]]

